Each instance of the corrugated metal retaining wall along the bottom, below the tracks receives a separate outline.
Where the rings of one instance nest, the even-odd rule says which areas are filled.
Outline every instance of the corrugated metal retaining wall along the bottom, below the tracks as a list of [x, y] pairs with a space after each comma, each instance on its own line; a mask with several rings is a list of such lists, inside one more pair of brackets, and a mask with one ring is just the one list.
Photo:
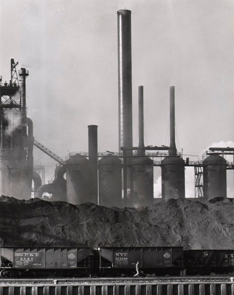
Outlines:
[[0, 295], [234, 295], [234, 283], [1, 284]]

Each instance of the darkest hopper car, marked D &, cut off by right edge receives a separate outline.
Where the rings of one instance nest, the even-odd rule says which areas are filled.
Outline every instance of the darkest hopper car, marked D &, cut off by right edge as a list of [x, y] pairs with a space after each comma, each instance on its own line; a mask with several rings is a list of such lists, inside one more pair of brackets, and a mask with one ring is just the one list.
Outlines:
[[234, 271], [234, 250], [185, 250], [183, 256], [187, 275]]

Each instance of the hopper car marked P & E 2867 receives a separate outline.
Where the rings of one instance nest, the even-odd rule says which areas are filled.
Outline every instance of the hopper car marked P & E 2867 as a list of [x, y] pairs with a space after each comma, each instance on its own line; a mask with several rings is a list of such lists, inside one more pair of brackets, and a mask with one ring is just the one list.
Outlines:
[[88, 247], [0, 247], [0, 277], [85, 276], [93, 269]]

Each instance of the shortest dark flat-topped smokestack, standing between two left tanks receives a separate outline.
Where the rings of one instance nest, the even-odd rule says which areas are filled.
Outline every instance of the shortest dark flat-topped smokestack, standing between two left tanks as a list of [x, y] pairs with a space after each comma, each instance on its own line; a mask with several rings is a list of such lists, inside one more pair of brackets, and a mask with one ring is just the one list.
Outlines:
[[89, 166], [90, 166], [90, 199], [89, 202], [98, 203], [97, 184], [97, 125], [88, 126], [89, 136]]

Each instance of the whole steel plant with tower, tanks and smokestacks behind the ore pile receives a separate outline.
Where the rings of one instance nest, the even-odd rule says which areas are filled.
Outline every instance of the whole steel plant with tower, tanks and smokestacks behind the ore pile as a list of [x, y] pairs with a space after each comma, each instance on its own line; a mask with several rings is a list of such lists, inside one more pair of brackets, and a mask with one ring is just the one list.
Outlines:
[[[33, 122], [26, 114], [26, 77], [29, 73], [21, 68], [19, 81], [18, 63], [11, 59], [10, 82], [3, 83], [0, 76], [2, 195], [29, 199], [33, 194], [43, 198], [45, 193], [49, 193], [51, 201], [72, 204], [90, 202], [107, 207], [151, 206], [155, 202], [153, 167], [161, 167], [162, 198], [157, 201], [165, 201], [185, 198], [184, 170], [192, 166], [195, 168], [195, 188], [198, 191], [198, 196], [192, 199], [204, 202], [214, 197], [227, 197], [226, 170], [234, 169], [234, 165], [224, 159], [224, 154], [233, 155], [234, 148], [207, 151], [202, 162], [190, 162], [189, 158], [184, 161], [175, 144], [174, 86], [170, 87], [169, 147], [144, 144], [143, 86], [138, 88], [139, 144], [133, 147], [130, 10], [117, 12], [117, 27], [119, 151], [98, 153], [97, 125], [88, 126], [88, 152], [69, 153], [65, 160], [37, 142], [33, 136]], [[12, 124], [13, 121], [18, 124]], [[48, 184], [44, 181], [43, 168], [33, 163], [33, 146], [58, 162], [55, 177]]]

